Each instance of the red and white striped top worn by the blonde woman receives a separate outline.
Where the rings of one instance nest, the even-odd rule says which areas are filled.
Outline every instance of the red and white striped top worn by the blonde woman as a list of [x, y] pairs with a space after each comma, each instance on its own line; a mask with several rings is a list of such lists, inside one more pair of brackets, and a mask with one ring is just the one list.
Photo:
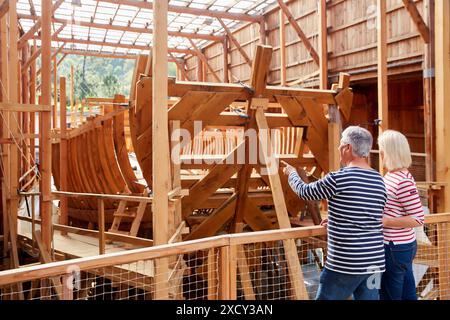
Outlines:
[[[408, 170], [388, 172], [384, 176], [388, 200], [384, 215], [389, 218], [411, 217], [423, 224], [424, 214], [414, 177]], [[416, 240], [414, 228], [383, 228], [384, 243], [405, 244]]]

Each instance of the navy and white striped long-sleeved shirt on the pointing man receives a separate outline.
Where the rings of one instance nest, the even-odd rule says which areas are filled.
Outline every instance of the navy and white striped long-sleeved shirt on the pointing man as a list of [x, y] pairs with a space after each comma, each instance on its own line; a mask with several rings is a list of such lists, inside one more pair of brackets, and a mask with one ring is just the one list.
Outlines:
[[302, 199], [328, 199], [327, 269], [384, 272], [382, 218], [387, 195], [377, 171], [346, 167], [309, 184], [292, 172], [289, 185]]

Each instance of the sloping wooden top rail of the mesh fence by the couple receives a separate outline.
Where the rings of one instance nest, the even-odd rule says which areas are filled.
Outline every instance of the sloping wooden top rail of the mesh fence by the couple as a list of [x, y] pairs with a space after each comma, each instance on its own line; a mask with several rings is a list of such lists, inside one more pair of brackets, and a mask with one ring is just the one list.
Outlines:
[[[450, 213], [432, 214], [425, 217], [426, 224], [444, 222], [450, 222]], [[0, 272], [0, 286], [16, 282], [64, 275], [68, 273], [68, 270], [73, 270], [73, 267], [78, 267], [80, 270], [89, 270], [108, 267], [111, 265], [132, 263], [140, 260], [150, 260], [172, 255], [185, 254], [193, 251], [233, 246], [237, 244], [242, 245], [255, 242], [301, 239], [325, 234], [326, 229], [324, 227], [313, 226], [222, 235], [205, 239], [179, 242], [175, 244], [165, 244], [150, 248], [108, 253], [102, 256], [52, 262], [44, 265], [2, 271]]]

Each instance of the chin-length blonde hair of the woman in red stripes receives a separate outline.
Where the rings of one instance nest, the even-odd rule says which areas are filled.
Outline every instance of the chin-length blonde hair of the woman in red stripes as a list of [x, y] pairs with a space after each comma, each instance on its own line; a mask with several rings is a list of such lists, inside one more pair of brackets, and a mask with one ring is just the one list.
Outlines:
[[378, 137], [380, 152], [384, 154], [383, 162], [389, 171], [409, 168], [411, 166], [411, 149], [406, 137], [395, 130], [386, 130]]

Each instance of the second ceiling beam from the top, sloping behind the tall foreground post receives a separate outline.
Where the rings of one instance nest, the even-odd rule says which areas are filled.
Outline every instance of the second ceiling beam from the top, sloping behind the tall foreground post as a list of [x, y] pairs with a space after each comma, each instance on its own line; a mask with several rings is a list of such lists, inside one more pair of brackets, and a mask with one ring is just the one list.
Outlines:
[[[27, 14], [19, 14], [19, 19], [27, 19], [27, 20], [37, 20], [38, 17], [27, 15]], [[136, 32], [136, 33], [149, 33], [153, 34], [153, 29], [149, 28], [136, 28], [136, 27], [126, 27], [126, 26], [117, 26], [113, 24], [104, 24], [104, 23], [93, 23], [87, 21], [79, 21], [79, 20], [66, 20], [66, 19], [57, 19], [52, 18], [53, 23], [67, 23], [68, 25], [77, 25], [82, 27], [91, 27], [97, 29], [106, 29], [106, 30], [118, 30], [118, 31], [127, 31], [127, 32]], [[210, 34], [198, 34], [198, 33], [188, 33], [188, 32], [178, 32], [178, 31], [169, 31], [169, 36], [173, 37], [182, 37], [182, 38], [190, 38], [190, 39], [202, 39], [208, 41], [223, 41], [223, 36], [214, 36]]]

